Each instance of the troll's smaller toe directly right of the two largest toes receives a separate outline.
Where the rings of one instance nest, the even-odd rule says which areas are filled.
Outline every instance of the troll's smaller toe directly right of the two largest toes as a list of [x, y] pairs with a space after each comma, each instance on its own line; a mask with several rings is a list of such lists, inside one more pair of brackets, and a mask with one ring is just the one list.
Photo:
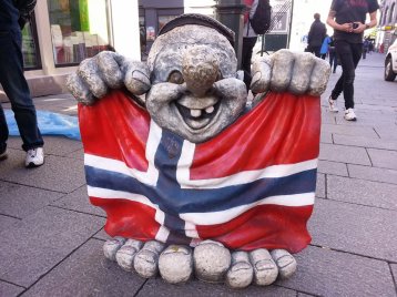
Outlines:
[[232, 288], [245, 288], [250, 286], [254, 277], [254, 269], [246, 252], [232, 254], [232, 266], [226, 275], [226, 284]]

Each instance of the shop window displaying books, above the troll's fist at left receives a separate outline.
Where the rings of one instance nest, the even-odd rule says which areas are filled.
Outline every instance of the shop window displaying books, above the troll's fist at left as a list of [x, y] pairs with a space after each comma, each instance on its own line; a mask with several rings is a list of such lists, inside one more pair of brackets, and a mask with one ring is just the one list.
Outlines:
[[106, 0], [48, 0], [57, 66], [110, 50]]

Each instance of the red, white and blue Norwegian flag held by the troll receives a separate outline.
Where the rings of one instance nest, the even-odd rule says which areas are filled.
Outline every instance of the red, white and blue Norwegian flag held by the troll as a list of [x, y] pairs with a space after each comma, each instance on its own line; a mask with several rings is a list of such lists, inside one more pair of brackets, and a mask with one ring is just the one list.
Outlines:
[[311, 242], [319, 111], [318, 98], [268, 93], [194, 144], [113, 91], [79, 105], [90, 201], [106, 212], [111, 236], [297, 253]]

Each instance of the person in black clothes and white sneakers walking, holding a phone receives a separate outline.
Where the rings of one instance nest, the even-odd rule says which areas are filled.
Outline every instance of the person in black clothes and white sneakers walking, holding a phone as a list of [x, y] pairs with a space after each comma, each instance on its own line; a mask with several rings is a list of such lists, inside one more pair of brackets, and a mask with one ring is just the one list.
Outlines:
[[[336, 100], [344, 93], [345, 120], [356, 121], [354, 110], [355, 69], [362, 58], [363, 35], [377, 24], [377, 0], [333, 0], [327, 23], [334, 28], [335, 50], [342, 65], [342, 75], [328, 99], [329, 111], [337, 112]], [[365, 23], [367, 13], [369, 22]]]

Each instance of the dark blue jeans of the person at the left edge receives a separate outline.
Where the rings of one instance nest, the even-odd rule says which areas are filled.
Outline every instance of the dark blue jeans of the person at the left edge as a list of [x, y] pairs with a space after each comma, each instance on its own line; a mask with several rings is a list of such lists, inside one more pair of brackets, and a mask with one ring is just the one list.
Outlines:
[[[33, 101], [23, 76], [22, 37], [18, 29], [0, 31], [0, 83], [11, 102], [24, 151], [43, 146]], [[0, 105], [0, 152], [6, 148], [9, 131]]]

